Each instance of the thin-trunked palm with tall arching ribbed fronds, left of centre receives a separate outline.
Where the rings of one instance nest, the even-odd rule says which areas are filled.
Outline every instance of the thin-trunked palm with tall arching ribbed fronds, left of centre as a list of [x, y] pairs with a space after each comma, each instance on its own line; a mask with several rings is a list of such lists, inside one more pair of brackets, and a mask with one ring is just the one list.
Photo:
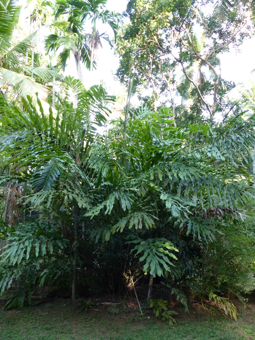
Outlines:
[[[57, 103], [55, 113], [51, 108], [49, 114], [45, 113], [39, 100], [38, 113], [29, 98], [23, 100], [25, 112], [6, 104], [6, 114], [1, 115], [0, 106], [0, 154], [2, 166], [6, 168], [14, 167], [14, 159], [18, 159], [19, 167], [31, 169], [26, 178], [33, 189], [31, 205], [37, 209], [46, 203], [50, 220], [54, 219], [64, 229], [72, 227], [69, 232], [74, 241], [72, 298], [75, 300], [78, 217], [80, 209], [87, 204], [82, 192], [91, 185], [87, 179], [88, 156], [97, 135], [95, 125], [105, 123], [105, 115], [109, 112], [107, 106], [115, 97], [108, 96], [102, 86], [93, 86], [86, 91], [79, 80], [71, 77], [65, 78], [65, 84], [66, 98]], [[74, 104], [71, 97], [74, 97]], [[8, 147], [11, 140], [14, 141], [14, 148]], [[22, 146], [18, 142], [21, 140]], [[16, 178], [23, 181], [21, 176], [17, 175]], [[61, 198], [61, 206], [55, 203], [56, 198]]]

